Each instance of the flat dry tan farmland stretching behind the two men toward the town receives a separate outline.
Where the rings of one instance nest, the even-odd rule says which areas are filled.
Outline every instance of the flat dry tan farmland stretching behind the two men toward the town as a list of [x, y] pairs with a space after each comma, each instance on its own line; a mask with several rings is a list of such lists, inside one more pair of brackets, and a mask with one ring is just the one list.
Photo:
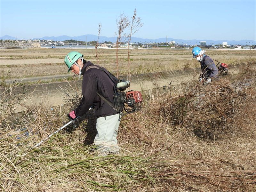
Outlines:
[[[81, 52], [86, 60], [100, 64], [115, 73], [115, 49], [100, 49], [99, 63], [95, 60], [95, 50], [92, 49], [1, 49], [0, 76], [2, 79], [8, 79], [68, 74], [64, 58], [70, 51]], [[121, 49], [118, 54], [119, 73], [125, 75], [128, 73], [127, 50]], [[255, 57], [256, 50], [206, 50], [206, 54], [220, 62], [240, 64], [249, 61], [250, 57]], [[130, 57], [133, 74], [199, 67], [199, 63], [192, 59], [191, 49], [135, 49]]]

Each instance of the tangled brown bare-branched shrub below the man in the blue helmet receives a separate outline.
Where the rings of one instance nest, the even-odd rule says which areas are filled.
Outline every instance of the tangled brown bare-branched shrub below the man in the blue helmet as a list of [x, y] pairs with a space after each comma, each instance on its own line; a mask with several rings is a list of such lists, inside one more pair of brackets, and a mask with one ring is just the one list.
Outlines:
[[[239, 131], [239, 115], [255, 103], [255, 75], [250, 65], [234, 83], [217, 79], [209, 85], [198, 83], [185, 95], [163, 102], [160, 115], [165, 123], [192, 130], [200, 138], [217, 140]], [[254, 106], [256, 107], [256, 106]]]

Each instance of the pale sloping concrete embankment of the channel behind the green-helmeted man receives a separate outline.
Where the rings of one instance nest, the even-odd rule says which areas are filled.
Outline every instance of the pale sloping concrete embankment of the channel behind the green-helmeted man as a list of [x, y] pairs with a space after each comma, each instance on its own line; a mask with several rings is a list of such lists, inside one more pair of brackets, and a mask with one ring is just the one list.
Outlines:
[[[193, 79], [198, 79], [199, 72], [200, 69], [196, 68], [132, 75], [132, 84], [130, 89], [143, 91], [163, 87], [164, 85], [175, 86], [177, 84], [191, 82]], [[43, 79], [44, 77], [37, 78], [38, 79], [36, 81]], [[51, 78], [54, 77], [52, 76]], [[119, 79], [127, 80], [128, 76], [119, 76]], [[35, 78], [32, 78], [32, 80], [35, 80]], [[28, 81], [28, 79], [26, 79], [26, 81]], [[23, 104], [16, 108], [16, 111], [21, 112], [27, 110], [25, 106], [32, 107], [43, 104], [49, 107], [58, 107], [63, 105], [65, 104], [67, 93], [72, 94], [75, 90], [77, 90], [78, 93], [81, 93], [81, 85], [82, 80], [28, 86], [25, 90], [27, 96], [23, 99]], [[4, 90], [2, 89], [0, 92], [3, 93]], [[22, 87], [17, 87], [12, 94], [17, 94], [19, 92], [24, 92]]]

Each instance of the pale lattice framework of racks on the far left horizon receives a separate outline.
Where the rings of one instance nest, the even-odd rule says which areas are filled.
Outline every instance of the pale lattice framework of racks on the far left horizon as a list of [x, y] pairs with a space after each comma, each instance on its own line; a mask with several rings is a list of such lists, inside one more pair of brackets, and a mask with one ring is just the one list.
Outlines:
[[20, 40], [3, 40], [0, 42], [0, 49], [31, 49], [41, 48], [38, 42], [28, 42]]

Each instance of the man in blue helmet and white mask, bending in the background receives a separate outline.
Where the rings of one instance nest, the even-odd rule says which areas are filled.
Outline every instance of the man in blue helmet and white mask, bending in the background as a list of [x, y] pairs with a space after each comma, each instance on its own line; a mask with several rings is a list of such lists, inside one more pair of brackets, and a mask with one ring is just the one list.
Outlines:
[[205, 51], [200, 47], [194, 47], [192, 50], [193, 57], [195, 57], [201, 64], [199, 82], [204, 80], [206, 81], [205, 83], [211, 83], [213, 79], [218, 78], [219, 72], [212, 58], [204, 53]]

